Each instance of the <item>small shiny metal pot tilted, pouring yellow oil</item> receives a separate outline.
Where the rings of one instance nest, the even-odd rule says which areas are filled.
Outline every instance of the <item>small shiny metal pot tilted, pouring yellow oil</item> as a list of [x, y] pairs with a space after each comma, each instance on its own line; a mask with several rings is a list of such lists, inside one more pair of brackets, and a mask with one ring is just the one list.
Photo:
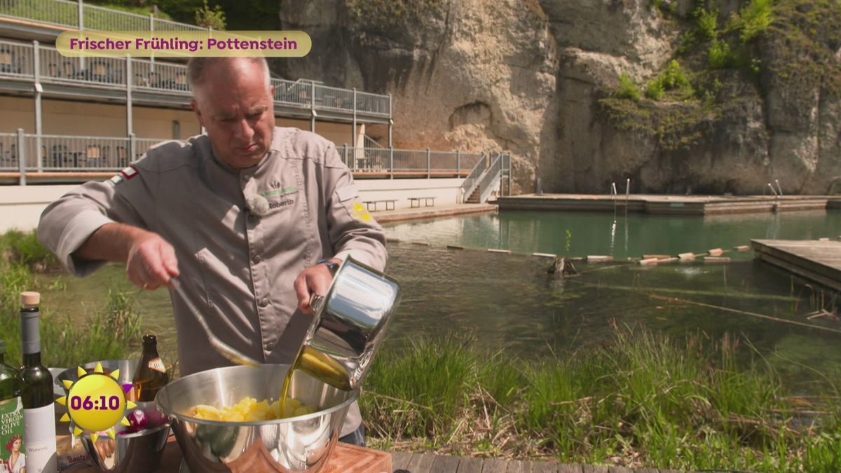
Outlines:
[[313, 297], [315, 318], [295, 368], [339, 389], [355, 389], [383, 339], [399, 293], [397, 280], [347, 258], [327, 294]]

